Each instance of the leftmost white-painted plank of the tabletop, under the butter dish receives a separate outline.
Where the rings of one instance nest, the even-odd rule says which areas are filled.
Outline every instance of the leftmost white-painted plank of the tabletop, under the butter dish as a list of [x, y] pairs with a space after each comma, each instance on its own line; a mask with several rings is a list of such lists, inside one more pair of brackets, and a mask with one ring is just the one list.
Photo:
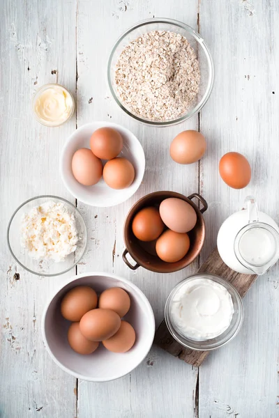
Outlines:
[[[19, 268], [6, 245], [8, 220], [23, 201], [57, 194], [74, 201], [59, 180], [59, 152], [75, 118], [58, 128], [32, 115], [33, 93], [60, 82], [75, 93], [75, 1], [1, 2], [0, 97], [0, 415], [3, 418], [76, 415], [76, 380], [47, 354], [41, 315], [54, 289], [74, 274], [37, 277]], [[15, 278], [15, 272], [20, 279]]]

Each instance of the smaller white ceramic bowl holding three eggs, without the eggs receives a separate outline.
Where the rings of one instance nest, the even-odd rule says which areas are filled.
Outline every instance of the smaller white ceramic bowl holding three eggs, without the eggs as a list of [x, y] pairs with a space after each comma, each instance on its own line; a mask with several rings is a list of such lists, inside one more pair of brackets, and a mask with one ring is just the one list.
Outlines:
[[[135, 168], [135, 180], [126, 189], [111, 189], [103, 178], [96, 185], [84, 186], [73, 176], [72, 159], [75, 151], [80, 148], [90, 148], [90, 137], [99, 127], [113, 127], [123, 137], [123, 150], [119, 155], [126, 157]], [[133, 196], [142, 183], [144, 169], [145, 157], [140, 141], [126, 127], [112, 122], [93, 122], [79, 127], [67, 139], [60, 160], [61, 177], [70, 194], [87, 205], [105, 208], [119, 205]]]

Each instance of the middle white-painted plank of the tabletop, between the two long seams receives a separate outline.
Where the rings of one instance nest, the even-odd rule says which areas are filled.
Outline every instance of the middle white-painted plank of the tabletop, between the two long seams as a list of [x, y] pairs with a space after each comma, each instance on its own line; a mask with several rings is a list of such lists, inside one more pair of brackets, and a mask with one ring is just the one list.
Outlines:
[[[156, 274], [139, 268], [132, 272], [123, 263], [123, 222], [130, 207], [149, 192], [172, 189], [197, 192], [198, 164], [179, 166], [169, 157], [169, 144], [183, 129], [197, 129], [197, 118], [170, 128], [146, 127], [123, 114], [110, 98], [105, 80], [108, 55], [118, 36], [148, 17], [167, 16], [191, 26], [197, 24], [197, 2], [79, 1], [77, 17], [78, 126], [92, 120], [120, 123], [140, 139], [146, 155], [146, 173], [140, 189], [128, 202], [96, 209], [78, 202], [89, 227], [88, 253], [78, 272], [105, 270], [126, 277], [149, 298], [156, 323], [163, 318], [166, 297], [173, 286], [197, 270], [197, 263], [174, 274]], [[105, 22], [105, 23], [104, 23]], [[91, 100], [92, 98], [92, 100]], [[194, 417], [197, 369], [154, 347], [130, 375], [102, 385], [79, 382], [79, 418], [88, 417]], [[183, 390], [181, 390], [183, 387]]]

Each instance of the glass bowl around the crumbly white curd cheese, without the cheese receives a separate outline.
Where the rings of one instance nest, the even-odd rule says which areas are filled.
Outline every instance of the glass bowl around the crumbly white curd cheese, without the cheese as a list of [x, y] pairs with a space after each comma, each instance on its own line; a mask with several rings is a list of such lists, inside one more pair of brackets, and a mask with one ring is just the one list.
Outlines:
[[[74, 214], [77, 226], [77, 249], [75, 252], [66, 256], [63, 261], [59, 262], [55, 262], [53, 260], [46, 261], [33, 259], [31, 256], [29, 256], [29, 254], [27, 254], [27, 251], [22, 248], [20, 243], [22, 216], [24, 213], [29, 212], [34, 206], [40, 206], [47, 201], [54, 201], [55, 203], [63, 203], [66, 205], [68, 210]], [[33, 274], [50, 277], [58, 276], [59, 274], [68, 272], [68, 270], [73, 268], [80, 261], [86, 247], [87, 233], [82, 215], [80, 215], [80, 212], [72, 203], [62, 199], [61, 197], [45, 195], [36, 196], [33, 199], [29, 199], [28, 201], [22, 203], [22, 205], [20, 205], [17, 210], [15, 210], [8, 224], [7, 238], [10, 252], [17, 263], [19, 263], [25, 270]]]

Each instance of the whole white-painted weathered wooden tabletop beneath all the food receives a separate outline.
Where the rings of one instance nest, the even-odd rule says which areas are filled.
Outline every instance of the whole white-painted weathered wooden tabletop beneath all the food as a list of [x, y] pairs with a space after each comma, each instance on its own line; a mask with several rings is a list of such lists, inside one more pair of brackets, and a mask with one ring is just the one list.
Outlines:
[[[220, 224], [248, 194], [279, 221], [279, 3], [276, 0], [1, 0], [1, 418], [276, 418], [279, 417], [279, 268], [260, 277], [244, 299], [245, 320], [228, 346], [198, 369], [153, 347], [129, 376], [93, 384], [63, 373], [40, 333], [43, 307], [75, 274], [40, 278], [16, 265], [6, 245], [13, 210], [38, 194], [75, 201], [59, 177], [59, 153], [84, 123], [114, 121], [135, 132], [146, 154], [146, 174], [132, 199], [98, 209], [77, 202], [89, 246], [77, 272], [121, 274], [149, 298], [156, 323], [169, 291], [198, 263], [174, 274], [129, 270], [121, 259], [123, 219], [148, 192], [199, 192], [209, 203], [200, 262], [216, 245]], [[149, 17], [171, 17], [198, 30], [213, 54], [216, 82], [198, 117], [152, 128], [123, 114], [110, 98], [106, 64], [116, 38]], [[59, 82], [76, 95], [76, 116], [59, 128], [31, 114], [36, 88]], [[208, 150], [198, 164], [179, 166], [168, 155], [173, 137], [200, 129]], [[252, 182], [229, 189], [218, 175], [220, 157], [244, 153]], [[15, 280], [15, 272], [20, 279]]]

